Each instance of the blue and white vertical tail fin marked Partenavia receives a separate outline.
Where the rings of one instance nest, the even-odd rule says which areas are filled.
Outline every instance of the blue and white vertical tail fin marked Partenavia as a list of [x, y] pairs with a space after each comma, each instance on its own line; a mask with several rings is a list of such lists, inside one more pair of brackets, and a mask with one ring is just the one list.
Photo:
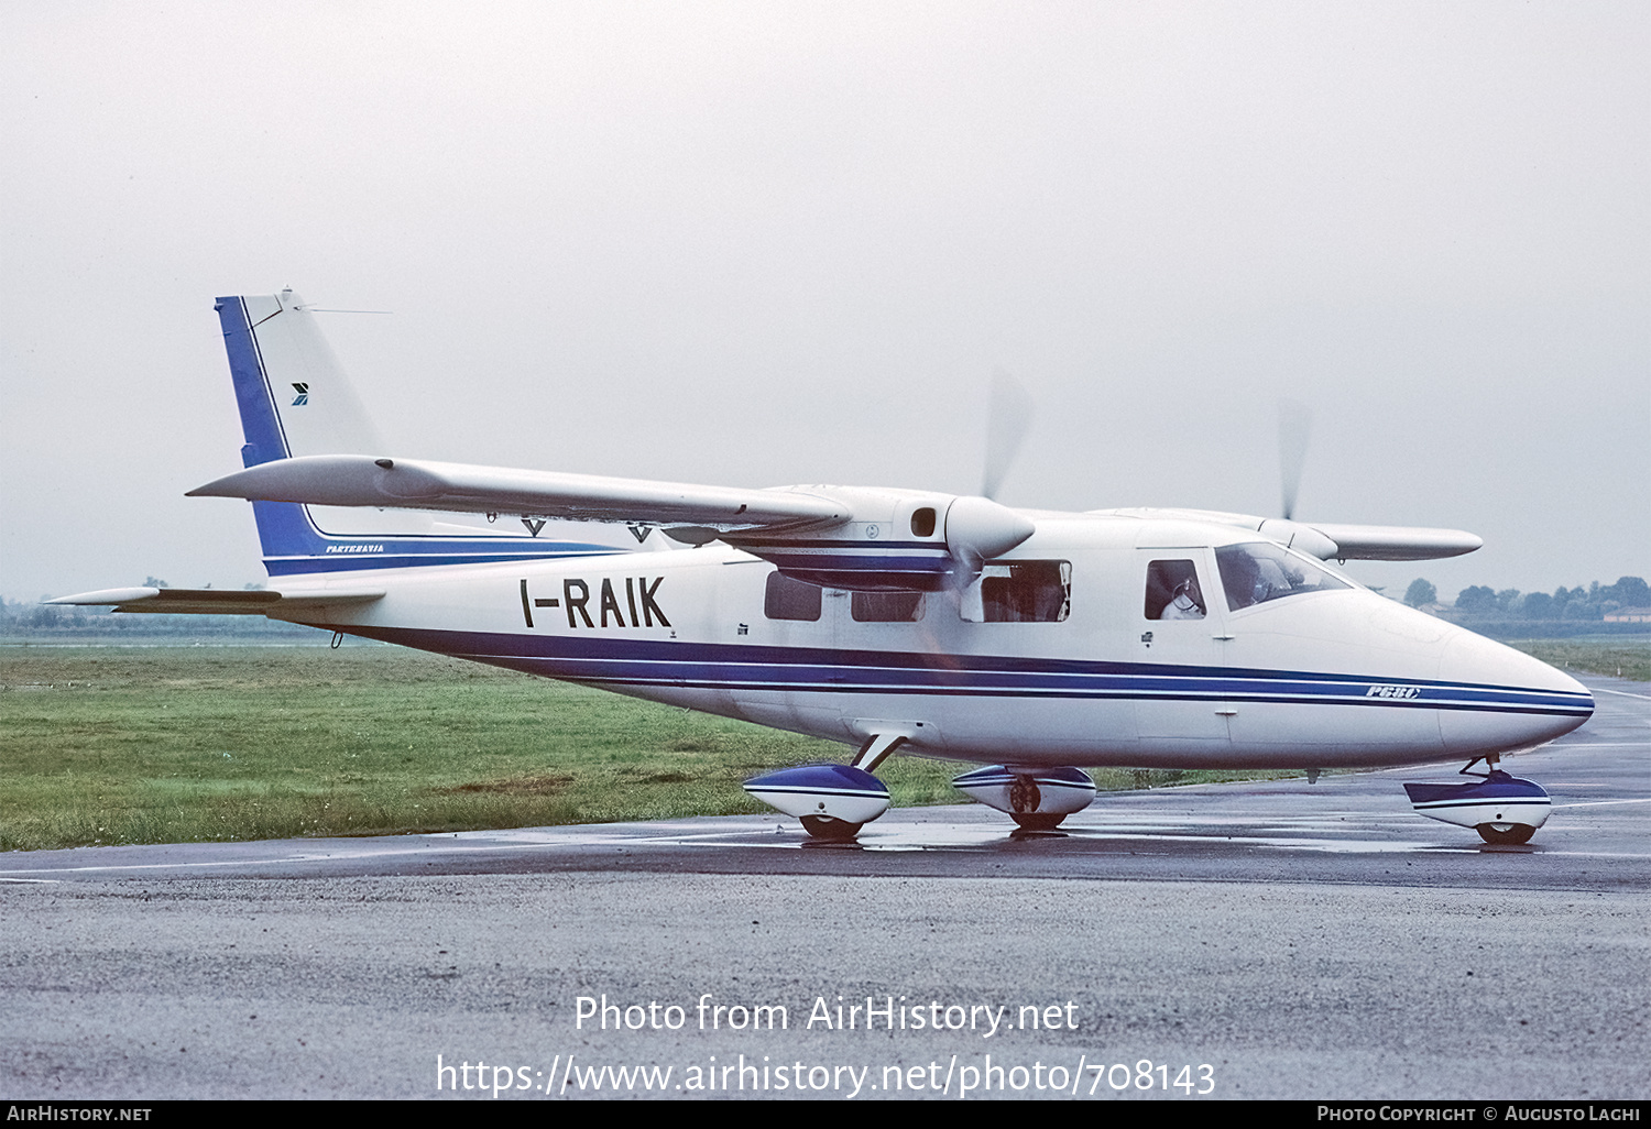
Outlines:
[[[241, 462], [256, 467], [310, 454], [386, 454], [315, 315], [292, 291], [267, 297], [220, 297], [213, 305], [229, 355], [229, 378], [246, 446]], [[253, 502], [264, 568], [271, 576], [416, 564], [588, 556], [622, 551], [588, 541], [540, 540], [538, 528], [464, 530], [438, 527], [424, 513], [348, 512], [317, 515], [296, 502]], [[322, 528], [383, 527], [395, 531], [342, 533]], [[348, 525], [338, 525], [338, 517]]]

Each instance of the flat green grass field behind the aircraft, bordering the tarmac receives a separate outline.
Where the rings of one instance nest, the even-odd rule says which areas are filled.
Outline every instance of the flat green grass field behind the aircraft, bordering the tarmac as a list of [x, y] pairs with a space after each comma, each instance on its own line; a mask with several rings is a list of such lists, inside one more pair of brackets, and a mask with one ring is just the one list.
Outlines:
[[[1646, 647], [1527, 649], [1651, 678]], [[0, 850], [764, 812], [741, 781], [847, 753], [396, 647], [0, 647]], [[896, 805], [951, 804], [966, 768], [893, 758], [878, 776]]]

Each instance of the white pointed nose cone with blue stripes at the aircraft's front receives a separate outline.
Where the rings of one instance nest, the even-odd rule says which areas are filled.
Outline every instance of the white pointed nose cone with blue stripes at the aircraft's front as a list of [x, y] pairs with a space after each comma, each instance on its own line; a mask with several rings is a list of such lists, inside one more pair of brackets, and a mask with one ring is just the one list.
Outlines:
[[1593, 695], [1568, 673], [1461, 627], [1445, 647], [1440, 680], [1453, 683], [1451, 708], [1440, 711], [1450, 753], [1529, 749], [1593, 716]]

